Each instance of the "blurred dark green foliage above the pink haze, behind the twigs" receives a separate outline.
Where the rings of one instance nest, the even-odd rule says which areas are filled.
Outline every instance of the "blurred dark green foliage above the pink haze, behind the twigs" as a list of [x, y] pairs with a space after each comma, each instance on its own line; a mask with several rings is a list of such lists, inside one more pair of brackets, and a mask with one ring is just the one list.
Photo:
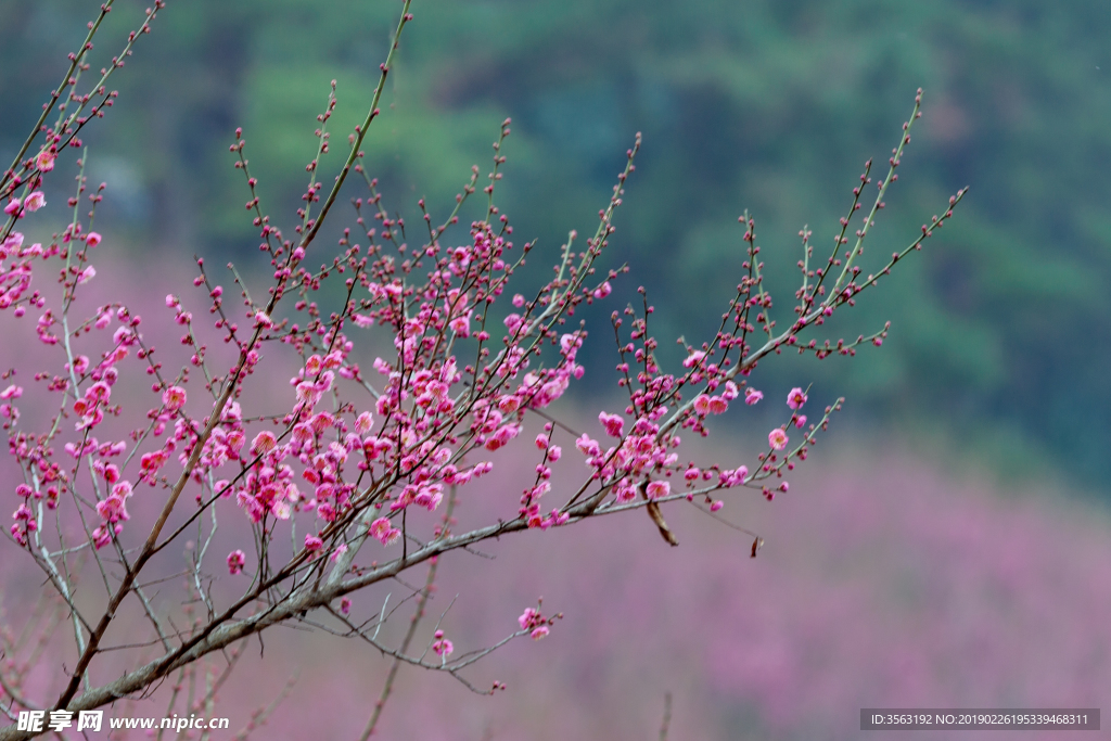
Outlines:
[[[119, 0], [98, 51], [121, 46], [141, 10]], [[93, 177], [99, 162], [120, 181], [106, 216], [136, 244], [250, 253], [248, 196], [227, 150], [234, 128], [263, 206], [291, 223], [329, 81], [334, 152], [366, 114], [399, 10], [171, 0], [118, 80], [111, 121], [89, 137]], [[0, 0], [0, 154], [18, 147], [94, 11], [87, 0]], [[830, 330], [854, 338], [890, 319], [882, 350], [785, 363], [757, 384], [775, 398], [817, 378], [815, 398], [845, 393], [869, 423], [941, 421], [961, 447], [1003, 430], [1089, 481], [1111, 473], [1111, 4], [417, 0], [413, 12], [366, 144], [387, 207], [419, 224], [424, 196], [446, 214], [471, 163], [489, 170], [511, 116], [499, 202], [519, 241], [538, 239], [539, 276], [569, 229], [592, 229], [641, 130], [609, 266], [631, 267], [620, 297], [649, 288], [669, 348], [714, 328], [739, 280], [745, 209], [777, 317], [790, 320], [798, 231], [809, 224], [824, 257], [862, 162], [885, 162], [923, 87], [865, 272], [950, 193], [968, 184], [970, 197]], [[588, 350], [609, 362], [597, 334]]]

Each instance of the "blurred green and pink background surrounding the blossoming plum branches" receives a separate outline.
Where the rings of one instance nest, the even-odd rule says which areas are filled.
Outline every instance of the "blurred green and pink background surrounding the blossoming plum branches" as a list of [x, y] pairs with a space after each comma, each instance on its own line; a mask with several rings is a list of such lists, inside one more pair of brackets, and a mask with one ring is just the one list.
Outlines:
[[[342, 149], [399, 7], [171, 0], [86, 138], [91, 179], [109, 183], [98, 223], [117, 254], [186, 264], [196, 252], [249, 268], [257, 241], [228, 154], [234, 128], [269, 212], [290, 223], [329, 81]], [[98, 51], [114, 53], [142, 8], [119, 0]], [[0, 159], [94, 11], [0, 0]], [[784, 357], [757, 379], [773, 403], [719, 425], [718, 450], [743, 455], [790, 387], [812, 382], [818, 403], [849, 399], [835, 442], [789, 495], [727, 510], [768, 539], [759, 559], [709, 520], [681, 520], [683, 544], [670, 552], [634, 519], [449, 564], [443, 590], [461, 594], [454, 630], [466, 640], [512, 628], [507, 614], [538, 593], [568, 617], [543, 643], [476, 669], [511, 683], [496, 700], [406, 677], [384, 730], [651, 738], [670, 690], [675, 738], [857, 738], [864, 705], [1111, 697], [1111, 4], [417, 0], [413, 12], [366, 146], [387, 208], [417, 224], [426, 197], [446, 214], [470, 166], [489, 170], [490, 142], [512, 117], [502, 211], [514, 237], [553, 254], [569, 229], [591, 228], [642, 131], [608, 257], [631, 270], [610, 301], [645, 286], [665, 357], [672, 338], [712, 330], [738, 282], [745, 209], [785, 316], [797, 233], [808, 224], [824, 254], [863, 161], [885, 161], [917, 88], [924, 114], [865, 272], [950, 193], [971, 191], [927, 250], [830, 330], [835, 340], [890, 320], [882, 350]], [[532, 276], [547, 262], [533, 260]], [[594, 380], [569, 418], [612, 398], [604, 334], [584, 349]], [[516, 491], [507, 479], [482, 495], [513, 507]], [[279, 710], [273, 738], [293, 733], [298, 715], [343, 719], [339, 708], [377, 697], [384, 664], [369, 653], [292, 643], [274, 653], [289, 667], [306, 663], [301, 650], [318, 660], [299, 690], [316, 704]], [[268, 677], [282, 674], [279, 659]], [[240, 700], [264, 701], [246, 690]], [[361, 727], [336, 722], [327, 738]]]

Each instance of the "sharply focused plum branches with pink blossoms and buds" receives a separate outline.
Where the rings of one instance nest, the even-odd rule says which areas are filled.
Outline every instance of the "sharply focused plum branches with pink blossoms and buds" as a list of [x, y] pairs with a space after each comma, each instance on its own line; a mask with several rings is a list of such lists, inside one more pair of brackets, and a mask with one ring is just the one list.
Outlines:
[[[160, 7], [156, 3], [148, 23]], [[83, 171], [71, 201], [72, 219], [48, 248], [24, 246], [23, 236], [12, 226], [44, 207], [44, 197], [34, 190], [39, 176], [23, 183], [20, 198], [10, 201], [14, 206], [6, 207], [0, 260], [9, 264], [0, 267], [0, 309], [11, 308], [17, 317], [31, 308], [41, 311], [36, 333], [43, 344], [60, 346], [56, 352], [63, 366], [60, 373], [37, 377], [48, 382], [42, 393], [57, 393], [60, 399], [50, 405], [57, 413], [42, 425], [44, 432], [37, 433], [36, 424], [27, 420], [19, 421], [21, 404], [27, 404], [20, 401], [21, 385], [12, 381], [0, 390], [0, 422], [23, 477], [16, 488], [20, 505], [6, 537], [27, 550], [48, 574], [73, 623], [78, 660], [67, 667], [69, 677], [59, 688], [54, 710], [89, 710], [122, 698], [148, 697], [168, 682], [170, 687], [162, 691], [169, 694], [170, 708], [183, 699], [189, 708], [210, 713], [214, 688], [222, 684], [234, 660], [219, 679], [207, 671], [198, 673], [203, 665], [199, 662], [208, 661], [206, 657], [213, 652], [234, 650], [244, 638], [261, 635], [274, 625], [334, 628], [330, 619], [313, 620], [313, 611], [330, 613], [346, 628], [343, 634], [358, 637], [392, 659], [364, 738], [374, 731], [402, 664], [443, 671], [474, 691], [492, 692], [477, 688], [460, 672], [510, 640], [543, 638], [560, 615], [544, 617], [538, 604], [519, 618], [520, 630], [503, 640], [456, 653], [447, 634], [449, 605], [418, 654], [412, 645], [431, 599], [439, 560], [453, 551], [474, 553], [476, 545], [510, 533], [531, 531], [531, 537], [538, 537], [595, 515], [635, 509], [648, 513], [664, 540], [678, 544], [678, 535], [664, 519], [664, 508], [671, 502], [687, 500], [714, 519], [723, 519], [718, 512], [725, 505], [725, 490], [760, 491], [769, 501], [787, 492], [788, 482], [782, 479], [807, 459], [819, 431], [841, 409], [842, 399], [808, 425], [804, 411], [813, 407], [805, 405], [817, 402], [809, 402], [810, 387], [793, 388], [787, 399], [789, 413], [768, 433], [767, 448], [753, 451], [748, 465], [740, 461], [695, 464], [687, 457], [691, 445], [683, 437], [708, 437], [713, 418], [731, 408], [743, 411], [768, 403], [754, 385], [760, 378], [758, 363], [784, 348], [822, 359], [834, 352], [852, 356], [865, 342], [881, 344], [888, 326], [835, 346], [803, 342], [802, 334], [824, 326], [837, 310], [854, 306], [863, 289], [889, 274], [911, 250], [921, 249], [967, 192], [952, 197], [949, 208], [923, 226], [922, 236], [893, 253], [878, 273], [861, 279], [863, 242], [883, 208], [887, 189], [897, 180], [895, 168], [919, 116], [919, 93], [879, 196], [857, 231], [855, 246], [838, 257], [860, 209], [861, 191], [870, 183], [870, 163], [853, 189], [849, 217], [841, 221], [827, 264], [813, 267], [809, 231], [803, 228], [802, 280], [795, 292], [797, 318], [790, 326], [777, 329], [771, 317], [773, 301], [764, 284], [755, 220], [748, 212], [739, 220], [745, 260], [737, 290], [713, 336], [693, 344], [679, 339], [687, 358], [674, 372], [658, 357], [653, 331], [659, 322], [652, 318], [655, 309], [643, 289], [635, 308], [630, 304], [611, 314], [619, 361], [617, 385], [627, 403], [599, 410], [595, 439], [590, 429], [575, 431], [560, 422], [553, 407], [585, 373], [580, 363], [588, 336], [583, 314], [607, 300], [627, 271], [627, 267], [602, 270], [600, 260], [615, 232], [614, 218], [635, 170], [640, 134], [627, 151], [608, 204], [599, 211], [593, 236], [581, 244], [578, 233], [570, 231], [553, 256], [552, 273], [539, 287], [513, 292], [520, 284], [518, 271], [527, 256], [537, 254], [538, 242], [514, 244], [509, 218], [494, 202], [507, 162], [508, 119], [493, 147], [484, 207], [469, 201], [477, 188], [476, 168], [440, 226], [433, 226], [424, 200], [418, 202], [428, 241], [410, 247], [404, 219], [386, 210], [377, 180], [366, 171], [361, 149], [367, 129], [380, 114], [401, 32], [412, 20], [409, 9], [406, 0], [370, 110], [350, 134], [350, 152], [326, 194], [319, 168], [330, 148], [328, 121], [336, 106], [334, 86], [329, 92], [327, 108], [318, 117], [304, 206], [290, 239], [283, 238], [261, 208], [244, 154], [246, 140], [241, 130], [236, 131], [231, 153], [234, 167], [247, 179], [251, 200], [246, 210], [259, 229], [260, 251], [270, 260], [272, 279], [251, 278], [251, 291], [238, 269], [229, 266], [242, 301], [232, 306], [198, 259], [200, 274], [193, 284], [204, 291], [201, 301], [209, 302], [212, 324], [201, 320], [202, 309], [194, 317], [186, 308], [193, 306], [188, 296], [167, 297], [167, 313], [184, 332], [178, 371], [163, 368], [163, 359], [168, 364], [177, 356], [164, 351], [163, 357], [163, 350], [140, 331], [151, 322], [142, 324], [126, 302], [97, 307], [88, 319], [78, 317], [86, 299], [81, 287], [94, 274], [89, 264], [91, 250], [101, 241], [91, 231], [101, 191], [90, 194], [88, 217], [78, 207], [84, 196]], [[127, 52], [133, 41], [134, 37], [129, 39]], [[77, 67], [68, 80], [81, 70], [83, 53], [74, 59]], [[118, 68], [116, 61], [89, 96], [74, 96], [76, 110], [59, 119], [51, 141], [77, 141], [73, 137], [80, 127], [111, 102], [103, 82]], [[122, 64], [122, 58], [119, 61]], [[90, 102], [98, 96], [101, 102]], [[93, 108], [86, 118], [88, 104]], [[17, 158], [17, 166], [24, 154]], [[82, 167], [87, 157], [80, 160]], [[36, 172], [41, 174], [46, 162], [34, 166]], [[51, 160], [47, 170], [52, 164]], [[366, 180], [370, 197], [354, 199], [353, 231], [343, 231], [330, 262], [324, 259], [319, 270], [309, 269], [307, 252], [351, 168]], [[6, 177], [3, 182], [13, 183], [21, 176]], [[0, 189], [7, 187], [0, 184]], [[478, 208], [478, 218], [469, 229], [461, 227], [468, 229], [466, 237], [448, 242], [447, 230], [458, 224], [464, 204]], [[380, 224], [371, 226], [373, 221]], [[46, 293], [29, 292], [37, 258], [57, 259], [54, 264], [61, 268], [57, 308], [46, 306]], [[833, 271], [835, 278], [827, 280]], [[290, 300], [282, 303], [286, 298]], [[237, 316], [237, 311], [242, 313]], [[99, 332], [113, 321], [120, 324], [118, 329]], [[357, 349], [362, 347], [363, 332], [382, 340], [373, 346], [381, 356], [373, 362], [367, 362], [369, 357]], [[87, 344], [94, 349], [86, 350]], [[117, 387], [122, 373], [132, 372], [148, 379], [153, 395], [146, 418], [141, 410], [134, 411], [143, 402]], [[249, 384], [252, 379], [280, 373], [289, 379], [288, 392]], [[368, 380], [371, 373], [379, 377], [373, 383]], [[194, 384], [203, 382], [203, 393], [191, 393], [191, 377]], [[259, 397], [264, 398], [261, 407]], [[542, 431], [531, 438], [526, 431], [537, 422], [533, 415], [544, 422]], [[124, 424], [130, 432], [114, 429]], [[572, 439], [565, 439], [567, 433]], [[793, 435], [799, 437], [792, 445]], [[58, 445], [69, 458], [54, 458], [52, 447]], [[510, 458], [533, 467], [520, 494], [514, 494], [517, 500], [507, 500], [496, 521], [457, 532], [452, 519], [457, 497], [467, 497], [477, 488], [468, 489], [468, 484]], [[583, 468], [575, 471], [572, 465]], [[544, 504], [553, 484], [569, 479], [570, 493], [562, 505]], [[142, 484], [154, 491], [150, 509], [157, 514], [132, 518], [129, 502], [142, 495], [137, 494]], [[42, 528], [48, 513], [56, 519], [53, 534]], [[80, 529], [63, 530], [69, 522], [63, 518], [70, 517], [80, 522]], [[754, 538], [754, 554], [761, 538], [740, 525], [730, 527]], [[241, 547], [227, 555], [217, 554], [218, 530], [221, 538], [231, 530]], [[71, 532], [78, 533], [77, 542]], [[181, 573], [188, 582], [188, 604], [164, 608], [153, 590], [148, 593], [160, 583], [152, 560], [186, 538], [191, 542]], [[78, 552], [91, 553], [101, 574], [104, 592], [97, 607], [102, 612], [96, 621], [87, 621], [74, 607], [81, 569], [69, 561]], [[351, 615], [350, 595], [386, 580], [403, 584], [407, 572], [424, 563], [424, 587], [413, 588], [410, 598], [392, 610], [387, 609], [387, 600], [380, 611], [364, 619]], [[214, 574], [223, 569], [234, 589], [230, 594], [214, 585]], [[131, 595], [137, 612], [141, 609], [149, 623], [143, 630], [153, 638], [109, 645], [106, 635], [120, 624]], [[399, 645], [388, 645], [379, 631], [410, 600], [416, 604], [409, 627]], [[151, 657], [150, 650], [157, 653]], [[117, 657], [134, 651], [141, 658], [112, 681], [97, 685], [92, 679], [102, 665], [99, 658], [110, 651]], [[19, 682], [11, 683], [19, 689]], [[493, 689], [501, 688], [494, 683]], [[10, 713], [11, 708], [7, 710]], [[256, 721], [268, 712], [261, 710]], [[668, 722], [665, 713], [661, 735], [667, 734]], [[29, 738], [28, 732], [0, 729], [0, 740], [23, 738]]]

